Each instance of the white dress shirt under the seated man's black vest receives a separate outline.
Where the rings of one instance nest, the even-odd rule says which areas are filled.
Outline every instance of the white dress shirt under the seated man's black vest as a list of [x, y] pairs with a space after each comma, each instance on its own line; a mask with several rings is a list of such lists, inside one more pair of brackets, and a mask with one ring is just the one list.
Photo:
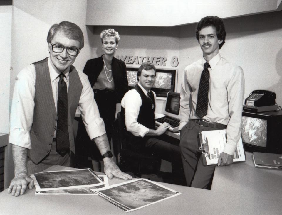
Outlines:
[[[144, 94], [147, 96], [148, 91], [141, 86], [140, 83], [137, 83], [142, 89]], [[156, 104], [156, 94], [154, 94], [155, 104]], [[121, 106], [125, 109], [125, 126], [127, 131], [131, 132], [134, 136], [144, 137], [148, 132], [149, 128], [143, 126], [137, 122], [139, 115], [140, 107], [142, 105], [142, 99], [140, 94], [135, 89], [129, 90], [125, 93], [124, 97], [121, 100]], [[155, 113], [155, 119], [162, 117], [162, 114]]]

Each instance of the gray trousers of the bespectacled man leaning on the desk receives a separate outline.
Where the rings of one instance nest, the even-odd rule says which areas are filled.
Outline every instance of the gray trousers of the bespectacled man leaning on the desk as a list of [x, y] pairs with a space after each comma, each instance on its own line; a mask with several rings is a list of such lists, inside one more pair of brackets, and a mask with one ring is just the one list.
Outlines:
[[65, 156], [61, 156], [59, 153], [56, 152], [56, 142], [52, 143], [52, 147], [50, 153], [43, 158], [38, 164], [35, 164], [29, 157], [27, 158], [27, 171], [28, 174], [34, 174], [37, 172], [42, 172], [43, 170], [53, 166], [53, 165], [60, 165], [60, 166], [70, 166], [70, 154], [73, 153], [66, 153]]

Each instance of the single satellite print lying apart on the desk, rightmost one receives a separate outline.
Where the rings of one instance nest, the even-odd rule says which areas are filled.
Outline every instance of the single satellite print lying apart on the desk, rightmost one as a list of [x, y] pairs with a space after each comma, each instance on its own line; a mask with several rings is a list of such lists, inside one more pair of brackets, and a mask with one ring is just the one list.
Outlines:
[[181, 194], [144, 178], [114, 184], [107, 188], [97, 189], [95, 192], [125, 212], [134, 211]]

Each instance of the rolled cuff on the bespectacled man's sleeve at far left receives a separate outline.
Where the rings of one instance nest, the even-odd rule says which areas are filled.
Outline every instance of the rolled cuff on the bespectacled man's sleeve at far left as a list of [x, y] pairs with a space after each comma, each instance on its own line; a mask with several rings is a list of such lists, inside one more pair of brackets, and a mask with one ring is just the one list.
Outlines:
[[9, 143], [31, 149], [29, 132], [24, 128], [10, 130]]

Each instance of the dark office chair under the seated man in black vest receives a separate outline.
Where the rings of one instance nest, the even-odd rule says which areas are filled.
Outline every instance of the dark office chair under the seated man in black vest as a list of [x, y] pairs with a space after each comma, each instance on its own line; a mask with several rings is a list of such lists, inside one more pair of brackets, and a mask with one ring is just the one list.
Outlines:
[[150, 152], [135, 152], [129, 148], [130, 138], [126, 131], [125, 118], [122, 112], [117, 113], [117, 126], [118, 138], [115, 140], [115, 142], [118, 145], [118, 166], [125, 168], [133, 166], [133, 174], [136, 178], [141, 178], [141, 169], [144, 167], [144, 165], [150, 164], [154, 171], [159, 171], [161, 163], [160, 158]]

